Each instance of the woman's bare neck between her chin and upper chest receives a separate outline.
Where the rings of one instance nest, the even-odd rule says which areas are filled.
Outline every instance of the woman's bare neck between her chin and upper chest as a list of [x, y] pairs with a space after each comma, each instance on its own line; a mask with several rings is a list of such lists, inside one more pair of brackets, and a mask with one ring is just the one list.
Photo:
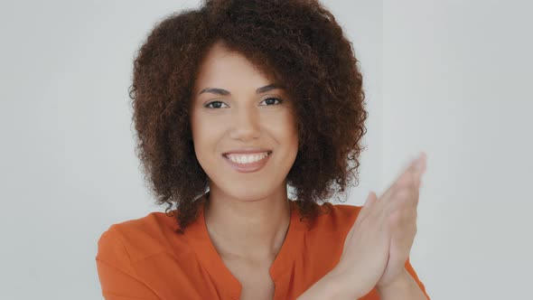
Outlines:
[[210, 239], [220, 255], [261, 260], [276, 258], [291, 217], [286, 188], [247, 201], [211, 189], [204, 214]]

